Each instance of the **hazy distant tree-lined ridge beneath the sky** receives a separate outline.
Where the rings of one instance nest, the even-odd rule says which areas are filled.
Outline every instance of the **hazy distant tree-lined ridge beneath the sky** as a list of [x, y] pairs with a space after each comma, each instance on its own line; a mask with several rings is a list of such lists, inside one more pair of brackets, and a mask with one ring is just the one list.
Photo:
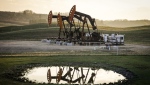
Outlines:
[[[0, 11], [0, 22], [12, 23], [18, 25], [28, 25], [36, 23], [47, 23], [48, 14], [36, 14], [28, 12], [6, 12]], [[53, 19], [53, 22], [56, 22]], [[98, 20], [96, 19], [97, 26], [109, 27], [137, 27], [150, 25], [150, 20]], [[1, 25], [1, 24], [0, 24]]]

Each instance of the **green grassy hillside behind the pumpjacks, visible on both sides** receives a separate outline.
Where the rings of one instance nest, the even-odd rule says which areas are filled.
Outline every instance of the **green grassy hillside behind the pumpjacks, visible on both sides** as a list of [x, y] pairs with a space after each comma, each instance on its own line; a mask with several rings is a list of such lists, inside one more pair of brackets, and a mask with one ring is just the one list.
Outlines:
[[[59, 28], [55, 24], [48, 27], [48, 24], [32, 24], [25, 26], [0, 27], [0, 40], [41, 40], [47, 37], [57, 37]], [[150, 26], [115, 28], [98, 27], [100, 33], [125, 34], [126, 44], [150, 45]]]

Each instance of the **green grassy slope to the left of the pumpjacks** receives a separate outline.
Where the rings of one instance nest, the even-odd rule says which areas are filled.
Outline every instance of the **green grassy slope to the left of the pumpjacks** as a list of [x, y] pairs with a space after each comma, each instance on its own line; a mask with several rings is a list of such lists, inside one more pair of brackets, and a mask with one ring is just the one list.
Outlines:
[[58, 29], [49, 28], [47, 24], [27, 26], [9, 26], [0, 28], [0, 40], [41, 40], [57, 36]]

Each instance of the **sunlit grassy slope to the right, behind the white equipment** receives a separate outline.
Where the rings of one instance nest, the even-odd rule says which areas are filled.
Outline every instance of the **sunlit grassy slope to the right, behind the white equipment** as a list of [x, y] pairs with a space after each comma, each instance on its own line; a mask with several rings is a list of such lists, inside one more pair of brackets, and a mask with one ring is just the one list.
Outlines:
[[125, 35], [125, 44], [150, 45], [150, 26], [115, 28], [98, 27], [101, 33], [119, 33]]

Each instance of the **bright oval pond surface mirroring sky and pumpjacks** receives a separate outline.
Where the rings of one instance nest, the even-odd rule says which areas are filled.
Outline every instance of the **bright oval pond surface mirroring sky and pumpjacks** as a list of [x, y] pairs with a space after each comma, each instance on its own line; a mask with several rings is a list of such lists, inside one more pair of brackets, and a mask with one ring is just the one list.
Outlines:
[[23, 78], [37, 83], [108, 84], [125, 80], [121, 74], [98, 68], [52, 66], [28, 70]]

